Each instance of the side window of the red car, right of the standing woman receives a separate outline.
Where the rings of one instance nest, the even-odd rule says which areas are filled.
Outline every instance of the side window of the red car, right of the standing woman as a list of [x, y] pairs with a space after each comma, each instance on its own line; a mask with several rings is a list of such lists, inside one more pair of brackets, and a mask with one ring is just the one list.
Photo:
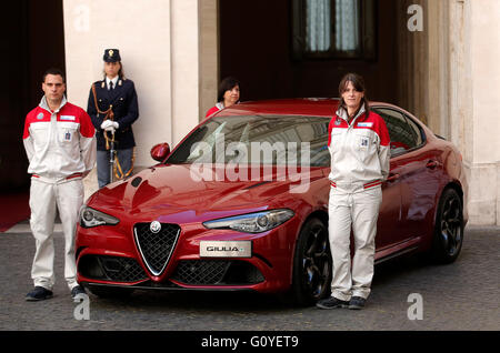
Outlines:
[[386, 121], [391, 138], [391, 155], [406, 153], [423, 143], [420, 128], [402, 112], [393, 109], [373, 109]]

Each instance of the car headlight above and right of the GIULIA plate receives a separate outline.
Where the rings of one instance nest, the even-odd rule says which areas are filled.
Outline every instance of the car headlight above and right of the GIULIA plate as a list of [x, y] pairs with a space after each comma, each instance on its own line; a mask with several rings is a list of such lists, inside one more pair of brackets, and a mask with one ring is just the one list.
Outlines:
[[271, 210], [207, 221], [203, 222], [203, 225], [209, 229], [232, 229], [244, 233], [261, 233], [277, 228], [293, 215], [293, 211], [288, 209]]

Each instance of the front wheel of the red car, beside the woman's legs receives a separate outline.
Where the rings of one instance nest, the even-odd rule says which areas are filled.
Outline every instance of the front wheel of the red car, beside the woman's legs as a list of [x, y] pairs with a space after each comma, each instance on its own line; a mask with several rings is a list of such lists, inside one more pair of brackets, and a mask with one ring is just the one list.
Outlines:
[[299, 234], [293, 258], [291, 291], [297, 304], [310, 305], [329, 294], [331, 263], [328, 226], [311, 219]]

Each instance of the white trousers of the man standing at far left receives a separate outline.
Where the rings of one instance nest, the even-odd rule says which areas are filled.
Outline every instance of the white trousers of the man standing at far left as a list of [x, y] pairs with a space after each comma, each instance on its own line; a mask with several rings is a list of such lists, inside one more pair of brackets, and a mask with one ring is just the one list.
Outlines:
[[78, 212], [83, 203], [83, 182], [81, 179], [59, 184], [46, 183], [31, 179], [30, 225], [36, 240], [36, 253], [31, 268], [34, 285], [52, 290], [56, 283], [53, 272], [54, 248], [53, 225], [56, 208], [62, 223], [64, 234], [64, 278], [68, 286], [73, 289], [77, 283], [77, 263], [74, 259], [74, 235]]

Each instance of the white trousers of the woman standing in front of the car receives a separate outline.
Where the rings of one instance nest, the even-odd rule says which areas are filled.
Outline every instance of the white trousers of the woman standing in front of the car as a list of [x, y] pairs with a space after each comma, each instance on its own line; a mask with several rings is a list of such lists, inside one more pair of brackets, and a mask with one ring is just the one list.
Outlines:
[[[329, 201], [329, 239], [333, 260], [331, 295], [349, 301], [370, 294], [374, 264], [374, 238], [382, 201], [380, 186], [357, 193], [331, 188]], [[354, 255], [350, 252], [351, 226]]]

